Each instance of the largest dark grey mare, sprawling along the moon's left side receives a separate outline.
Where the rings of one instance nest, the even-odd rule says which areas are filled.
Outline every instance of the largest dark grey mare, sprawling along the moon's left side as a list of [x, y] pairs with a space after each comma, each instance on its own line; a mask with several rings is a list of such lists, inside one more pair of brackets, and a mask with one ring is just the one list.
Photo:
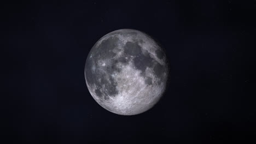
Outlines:
[[[116, 88], [117, 82], [114, 81], [111, 75], [114, 72], [120, 72], [120, 69], [117, 68], [119, 59], [110, 60], [110, 63], [106, 64], [105, 67], [100, 67], [97, 63], [101, 59], [112, 59], [116, 55], [112, 50], [117, 47], [119, 42], [118, 38], [110, 37], [103, 40], [98, 47], [96, 47], [96, 43], [92, 47], [89, 56], [86, 59], [85, 76], [87, 82], [90, 86], [94, 84], [96, 85], [97, 89], [95, 90], [95, 93], [100, 98], [109, 99], [109, 96], [114, 97], [118, 94], [118, 90]], [[92, 57], [90, 58], [90, 56]], [[121, 59], [120, 61], [124, 62], [124, 59]], [[92, 70], [92, 67], [95, 67], [95, 70]], [[103, 88], [103, 85], [106, 88], [101, 92], [100, 89]]]

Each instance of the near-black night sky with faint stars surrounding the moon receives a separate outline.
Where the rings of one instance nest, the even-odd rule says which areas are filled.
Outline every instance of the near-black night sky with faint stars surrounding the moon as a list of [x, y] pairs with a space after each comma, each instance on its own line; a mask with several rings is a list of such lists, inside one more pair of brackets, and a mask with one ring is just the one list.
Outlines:
[[[0, 7], [2, 140], [255, 142], [256, 1], [8, 1]], [[104, 110], [84, 79], [91, 47], [121, 28], [155, 38], [170, 61], [164, 98], [136, 116]]]

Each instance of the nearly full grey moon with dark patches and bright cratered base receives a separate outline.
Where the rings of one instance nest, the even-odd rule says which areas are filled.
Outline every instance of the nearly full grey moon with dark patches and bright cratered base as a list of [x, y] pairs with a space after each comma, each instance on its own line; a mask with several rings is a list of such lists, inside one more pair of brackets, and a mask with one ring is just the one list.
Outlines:
[[90, 94], [104, 109], [137, 115], [162, 97], [168, 68], [164, 51], [147, 34], [119, 29], [92, 47], [84, 73]]

